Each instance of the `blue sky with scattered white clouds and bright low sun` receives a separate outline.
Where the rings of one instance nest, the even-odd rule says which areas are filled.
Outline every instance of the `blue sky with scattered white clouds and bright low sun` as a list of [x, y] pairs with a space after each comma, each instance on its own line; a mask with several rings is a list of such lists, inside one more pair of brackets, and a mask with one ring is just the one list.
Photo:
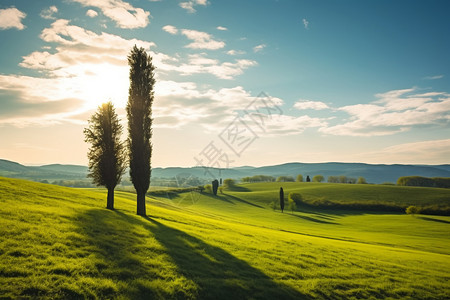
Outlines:
[[0, 158], [87, 165], [127, 55], [156, 67], [152, 166], [450, 163], [450, 2], [2, 0]]

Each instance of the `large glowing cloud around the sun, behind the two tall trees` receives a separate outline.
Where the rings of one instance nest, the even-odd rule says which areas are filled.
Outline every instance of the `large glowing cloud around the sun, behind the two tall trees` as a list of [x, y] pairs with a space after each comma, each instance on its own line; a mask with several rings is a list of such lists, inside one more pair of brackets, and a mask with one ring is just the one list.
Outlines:
[[[20, 65], [44, 76], [0, 78], [0, 90], [10, 96], [8, 99], [14, 99], [7, 117], [1, 118], [2, 123], [24, 126], [80, 122], [77, 116], [84, 116], [84, 111], [106, 100], [124, 107], [129, 82], [127, 55], [135, 44], [145, 49], [154, 45], [107, 33], [96, 34], [70, 25], [68, 20], [53, 22], [40, 37], [57, 45], [30, 53]], [[165, 59], [160, 55], [153, 57], [155, 63]]]

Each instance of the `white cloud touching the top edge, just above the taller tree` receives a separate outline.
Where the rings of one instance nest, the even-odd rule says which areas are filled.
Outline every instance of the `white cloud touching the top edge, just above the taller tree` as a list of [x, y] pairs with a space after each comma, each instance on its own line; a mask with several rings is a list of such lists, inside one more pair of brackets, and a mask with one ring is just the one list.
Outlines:
[[120, 28], [142, 28], [149, 23], [150, 12], [122, 0], [71, 0], [86, 7], [97, 7]]

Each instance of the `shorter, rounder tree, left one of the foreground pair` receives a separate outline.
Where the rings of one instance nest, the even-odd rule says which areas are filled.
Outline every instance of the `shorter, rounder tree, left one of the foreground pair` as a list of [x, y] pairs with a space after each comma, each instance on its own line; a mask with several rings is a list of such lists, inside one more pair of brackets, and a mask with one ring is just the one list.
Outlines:
[[111, 102], [98, 107], [84, 129], [85, 141], [91, 144], [88, 152], [88, 177], [97, 186], [108, 189], [106, 207], [114, 209], [114, 188], [125, 171], [125, 145], [120, 141], [122, 125]]

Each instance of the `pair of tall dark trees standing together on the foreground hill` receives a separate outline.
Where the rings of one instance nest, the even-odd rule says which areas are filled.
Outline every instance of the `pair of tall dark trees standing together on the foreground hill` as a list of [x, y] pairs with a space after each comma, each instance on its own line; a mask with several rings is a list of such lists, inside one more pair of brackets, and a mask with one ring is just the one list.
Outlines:
[[130, 88], [126, 107], [128, 139], [120, 140], [122, 125], [111, 102], [104, 103], [91, 116], [84, 129], [88, 151], [88, 177], [97, 186], [108, 189], [108, 209], [114, 209], [114, 189], [125, 172], [127, 163], [137, 195], [137, 214], [146, 216], [145, 194], [150, 187], [152, 144], [152, 104], [154, 98], [154, 66], [144, 48], [136, 45], [128, 55]]

